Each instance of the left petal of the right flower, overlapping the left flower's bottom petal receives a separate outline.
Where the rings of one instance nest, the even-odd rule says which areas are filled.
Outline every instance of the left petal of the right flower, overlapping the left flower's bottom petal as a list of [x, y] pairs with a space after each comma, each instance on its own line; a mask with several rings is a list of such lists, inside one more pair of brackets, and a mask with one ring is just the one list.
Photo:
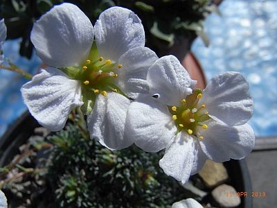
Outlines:
[[168, 107], [155, 98], [139, 98], [128, 109], [126, 130], [134, 143], [147, 152], [166, 148], [177, 131]]

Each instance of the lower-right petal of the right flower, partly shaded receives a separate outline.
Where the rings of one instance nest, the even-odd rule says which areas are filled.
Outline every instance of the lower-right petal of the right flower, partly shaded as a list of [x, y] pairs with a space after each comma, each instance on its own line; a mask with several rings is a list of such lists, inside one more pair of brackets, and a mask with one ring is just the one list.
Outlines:
[[231, 159], [242, 159], [253, 149], [255, 135], [247, 123], [229, 127], [225, 123], [209, 120], [208, 129], [199, 132], [204, 139], [200, 140], [202, 150], [214, 162], [225, 162]]

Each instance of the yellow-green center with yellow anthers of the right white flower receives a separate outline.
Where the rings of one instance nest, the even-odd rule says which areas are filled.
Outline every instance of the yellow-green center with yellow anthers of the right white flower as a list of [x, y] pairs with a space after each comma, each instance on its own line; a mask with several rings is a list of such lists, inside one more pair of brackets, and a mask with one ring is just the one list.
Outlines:
[[175, 120], [177, 126], [176, 135], [185, 130], [189, 135], [194, 135], [199, 139], [204, 139], [199, 135], [197, 128], [208, 129], [205, 121], [211, 119], [208, 112], [205, 110], [205, 105], [199, 105], [199, 99], [202, 98], [202, 89], [194, 89], [193, 93], [186, 96], [180, 102], [180, 106], [168, 106], [168, 110], [172, 114], [172, 119]]

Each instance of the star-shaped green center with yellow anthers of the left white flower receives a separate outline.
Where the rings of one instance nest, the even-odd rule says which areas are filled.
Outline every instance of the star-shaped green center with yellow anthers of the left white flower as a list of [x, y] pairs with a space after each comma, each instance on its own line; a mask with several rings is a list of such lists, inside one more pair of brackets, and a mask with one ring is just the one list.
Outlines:
[[84, 64], [79, 67], [60, 68], [60, 70], [66, 73], [69, 78], [80, 80], [82, 101], [84, 102], [81, 110], [84, 114], [89, 114], [93, 109], [98, 94], [107, 96], [107, 92], [118, 92], [126, 96], [114, 85], [113, 80], [118, 77], [118, 74], [114, 72], [115, 69], [120, 69], [121, 67], [123, 67], [122, 64], [116, 64], [112, 60], [99, 56], [96, 43], [93, 42], [89, 57], [84, 60]]

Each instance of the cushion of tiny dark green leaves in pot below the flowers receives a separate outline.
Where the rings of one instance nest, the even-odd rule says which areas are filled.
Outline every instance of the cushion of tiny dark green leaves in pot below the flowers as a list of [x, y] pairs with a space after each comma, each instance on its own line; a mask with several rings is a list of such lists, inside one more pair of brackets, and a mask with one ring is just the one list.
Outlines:
[[[80, 124], [80, 121], [78, 121]], [[60, 207], [171, 207], [184, 189], [159, 168], [161, 154], [136, 146], [111, 151], [69, 123], [49, 139], [48, 180]]]

